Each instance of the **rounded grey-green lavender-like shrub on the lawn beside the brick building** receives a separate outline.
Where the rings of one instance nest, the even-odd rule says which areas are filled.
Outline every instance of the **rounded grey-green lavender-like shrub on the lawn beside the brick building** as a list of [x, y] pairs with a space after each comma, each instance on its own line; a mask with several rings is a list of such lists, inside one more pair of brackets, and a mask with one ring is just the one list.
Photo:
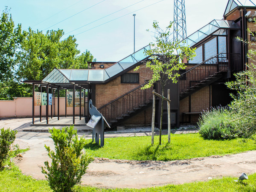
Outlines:
[[205, 139], [230, 139], [234, 137], [233, 124], [229, 122], [228, 108], [204, 111], [198, 120], [199, 134]]

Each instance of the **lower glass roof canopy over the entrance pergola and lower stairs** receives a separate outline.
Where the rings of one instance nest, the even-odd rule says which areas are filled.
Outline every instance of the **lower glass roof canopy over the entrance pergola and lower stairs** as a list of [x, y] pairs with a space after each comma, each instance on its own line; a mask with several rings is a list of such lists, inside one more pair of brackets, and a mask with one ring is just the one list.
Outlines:
[[149, 58], [149, 55], [145, 54], [145, 50], [150, 49], [150, 46], [147, 45], [142, 49], [134, 52], [128, 57], [122, 59], [121, 61], [116, 62], [111, 67], [106, 69], [54, 69], [52, 70], [42, 81], [47, 83], [71, 83], [71, 82], [104, 82], [111, 77], [116, 76], [125, 69], [132, 67], [134, 64], [137, 64], [140, 61]]

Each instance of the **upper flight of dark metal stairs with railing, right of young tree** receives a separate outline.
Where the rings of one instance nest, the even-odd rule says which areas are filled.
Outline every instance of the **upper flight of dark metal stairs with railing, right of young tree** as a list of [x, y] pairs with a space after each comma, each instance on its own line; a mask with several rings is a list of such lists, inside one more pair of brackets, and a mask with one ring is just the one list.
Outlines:
[[180, 75], [180, 100], [223, 78], [228, 71], [227, 53], [215, 55]]

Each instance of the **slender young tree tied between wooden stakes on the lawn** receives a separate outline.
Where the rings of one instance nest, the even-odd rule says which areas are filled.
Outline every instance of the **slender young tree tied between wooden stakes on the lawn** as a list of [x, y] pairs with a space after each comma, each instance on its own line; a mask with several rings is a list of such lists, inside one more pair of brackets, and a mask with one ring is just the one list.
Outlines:
[[[151, 60], [146, 63], [152, 72], [152, 79], [148, 81], [143, 89], [153, 86], [154, 83], [160, 81], [162, 96], [164, 96], [164, 87], [170, 81], [177, 83], [180, 76], [178, 71], [185, 69], [185, 64], [182, 62], [184, 58], [191, 59], [195, 55], [195, 49], [184, 46], [184, 42], [172, 41], [171, 28], [172, 22], [165, 30], [161, 29], [157, 21], [153, 22], [155, 29], [155, 43], [150, 43], [151, 49], [145, 51], [147, 55], [151, 55]], [[148, 30], [147, 30], [148, 31]], [[138, 67], [136, 68], [136, 70]], [[161, 117], [160, 117], [160, 134], [159, 143], [161, 144], [163, 124], [163, 99], [161, 99]]]

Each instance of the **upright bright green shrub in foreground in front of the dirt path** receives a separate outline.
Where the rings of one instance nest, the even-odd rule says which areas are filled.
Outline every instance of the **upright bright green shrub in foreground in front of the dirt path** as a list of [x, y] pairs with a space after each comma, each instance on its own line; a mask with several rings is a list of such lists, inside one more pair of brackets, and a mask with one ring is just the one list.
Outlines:
[[71, 191], [73, 186], [81, 183], [81, 177], [93, 158], [82, 153], [85, 139], [82, 137], [78, 139], [73, 126], [62, 130], [52, 128], [49, 132], [54, 141], [55, 151], [51, 151], [45, 145], [52, 163], [49, 165], [48, 161], [44, 162], [45, 167], [42, 167], [42, 172], [54, 191]]

